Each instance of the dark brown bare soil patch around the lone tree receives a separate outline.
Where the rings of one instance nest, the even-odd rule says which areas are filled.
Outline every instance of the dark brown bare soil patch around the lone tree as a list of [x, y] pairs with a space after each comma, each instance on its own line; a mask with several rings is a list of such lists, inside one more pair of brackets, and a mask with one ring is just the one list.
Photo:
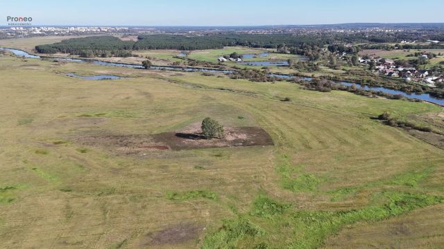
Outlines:
[[227, 127], [225, 138], [207, 139], [195, 126], [176, 132], [133, 135], [91, 135], [74, 138], [83, 145], [108, 147], [120, 154], [140, 154], [144, 151], [166, 149], [205, 149], [216, 147], [243, 147], [274, 145], [271, 137], [260, 127]]

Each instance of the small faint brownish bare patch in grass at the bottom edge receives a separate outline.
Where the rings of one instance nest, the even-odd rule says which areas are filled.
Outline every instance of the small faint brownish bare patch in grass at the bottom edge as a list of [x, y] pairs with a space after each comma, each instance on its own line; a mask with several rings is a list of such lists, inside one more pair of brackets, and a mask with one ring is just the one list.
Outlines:
[[144, 248], [146, 246], [184, 243], [196, 239], [201, 230], [202, 227], [198, 225], [179, 223], [164, 230], [146, 234], [146, 239], [141, 246]]

